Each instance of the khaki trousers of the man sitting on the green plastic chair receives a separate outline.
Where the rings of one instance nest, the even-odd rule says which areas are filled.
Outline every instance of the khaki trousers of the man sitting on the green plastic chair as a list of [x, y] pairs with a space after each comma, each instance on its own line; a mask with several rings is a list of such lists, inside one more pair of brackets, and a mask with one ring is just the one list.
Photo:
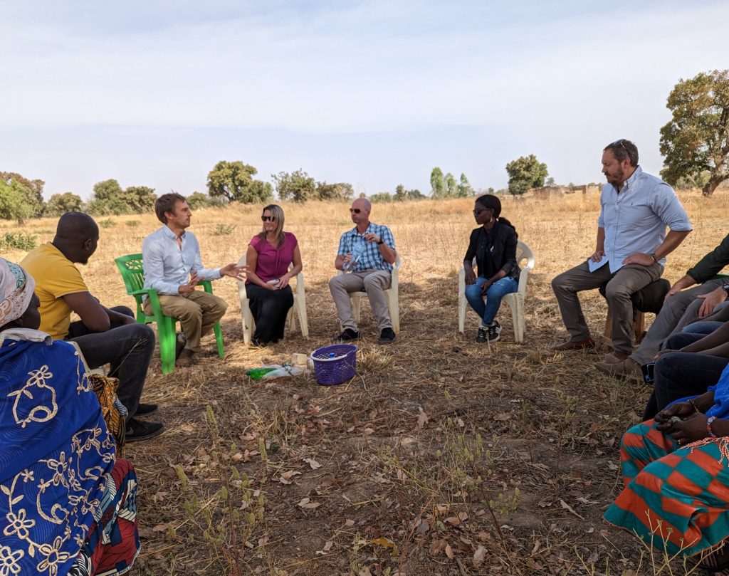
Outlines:
[[[225, 300], [203, 290], [179, 296], [160, 295], [160, 305], [165, 316], [172, 316], [180, 321], [182, 331], [187, 336], [185, 348], [193, 352], [202, 350], [200, 338], [213, 330], [215, 323], [227, 310]], [[144, 303], [144, 312], [152, 314], [149, 300]]]

